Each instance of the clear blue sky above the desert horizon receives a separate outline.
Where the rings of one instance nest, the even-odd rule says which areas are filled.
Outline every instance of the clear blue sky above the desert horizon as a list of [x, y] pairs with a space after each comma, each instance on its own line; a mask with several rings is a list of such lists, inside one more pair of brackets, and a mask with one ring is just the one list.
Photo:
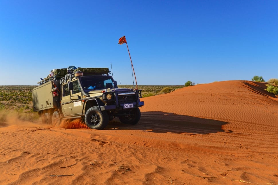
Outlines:
[[278, 78], [278, 1], [0, 0], [0, 85], [113, 67], [132, 84]]

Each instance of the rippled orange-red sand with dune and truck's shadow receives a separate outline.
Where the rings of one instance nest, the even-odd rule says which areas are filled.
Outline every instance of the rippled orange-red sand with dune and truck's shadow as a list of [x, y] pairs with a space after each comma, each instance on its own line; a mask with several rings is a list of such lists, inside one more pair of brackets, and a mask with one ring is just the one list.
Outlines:
[[11, 119], [0, 184], [278, 184], [278, 99], [264, 88], [235, 80], [142, 98], [137, 125], [104, 130]]

